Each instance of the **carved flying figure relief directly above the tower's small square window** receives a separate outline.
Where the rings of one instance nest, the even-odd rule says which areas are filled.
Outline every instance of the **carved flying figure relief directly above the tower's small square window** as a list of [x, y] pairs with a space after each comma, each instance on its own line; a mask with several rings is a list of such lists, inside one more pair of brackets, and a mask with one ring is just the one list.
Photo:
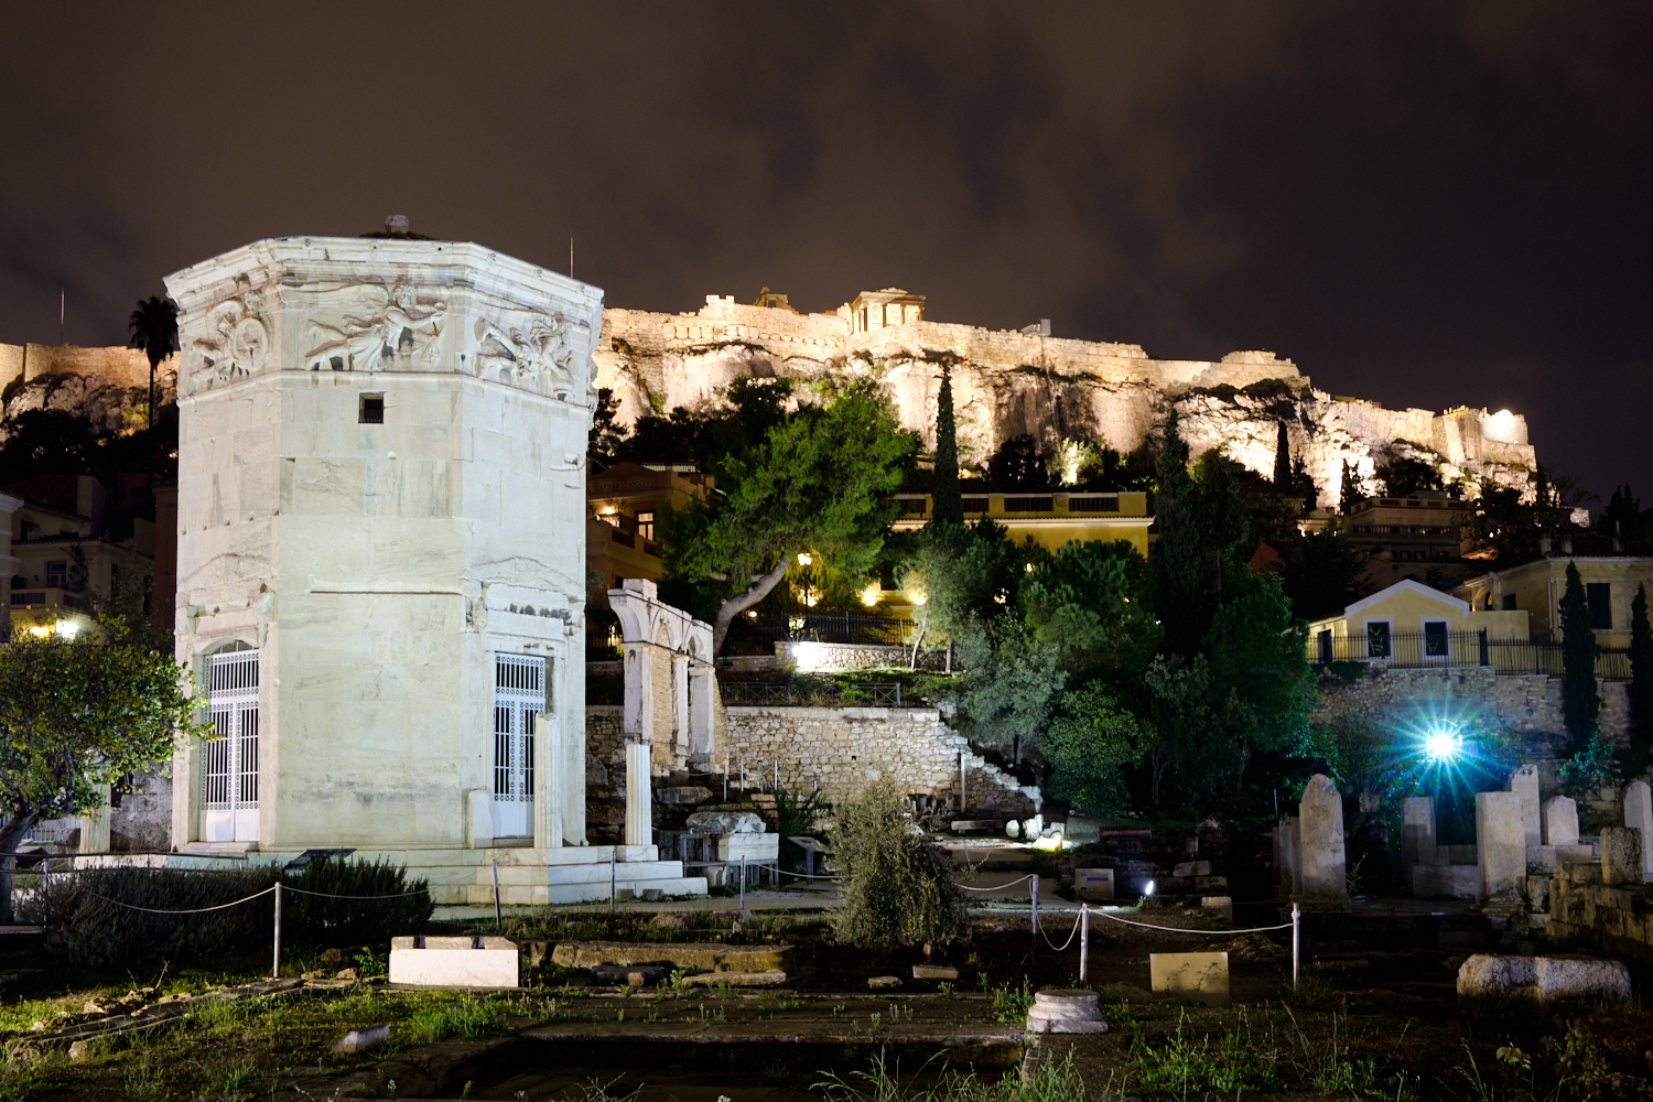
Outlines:
[[[379, 367], [435, 367], [448, 304], [420, 302], [418, 292], [398, 283], [352, 284], [317, 294], [322, 309], [339, 311], [337, 324], [304, 325], [304, 363], [312, 372], [370, 372]], [[329, 311], [332, 312], [332, 311]]]

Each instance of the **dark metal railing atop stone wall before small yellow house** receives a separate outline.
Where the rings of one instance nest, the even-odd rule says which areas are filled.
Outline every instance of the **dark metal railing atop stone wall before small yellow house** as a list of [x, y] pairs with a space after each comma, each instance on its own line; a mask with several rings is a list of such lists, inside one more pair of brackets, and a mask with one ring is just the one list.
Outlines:
[[[1499, 674], [1542, 674], [1560, 677], [1562, 644], [1531, 639], [1491, 639], [1486, 631], [1431, 631], [1397, 634], [1374, 631], [1309, 638], [1311, 663], [1379, 663], [1390, 669], [1466, 669], [1489, 666]], [[1630, 651], [1603, 646], [1595, 658], [1595, 676], [1630, 681]]]

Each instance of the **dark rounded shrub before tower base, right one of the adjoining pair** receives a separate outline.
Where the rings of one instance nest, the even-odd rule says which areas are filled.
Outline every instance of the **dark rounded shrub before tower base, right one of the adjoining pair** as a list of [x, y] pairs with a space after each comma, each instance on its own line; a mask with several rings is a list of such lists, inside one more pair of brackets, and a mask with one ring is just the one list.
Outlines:
[[286, 892], [281, 900], [283, 933], [304, 945], [382, 945], [397, 935], [418, 933], [436, 909], [425, 891], [428, 882], [408, 881], [407, 869], [388, 861], [319, 857], [286, 884], [322, 894]]

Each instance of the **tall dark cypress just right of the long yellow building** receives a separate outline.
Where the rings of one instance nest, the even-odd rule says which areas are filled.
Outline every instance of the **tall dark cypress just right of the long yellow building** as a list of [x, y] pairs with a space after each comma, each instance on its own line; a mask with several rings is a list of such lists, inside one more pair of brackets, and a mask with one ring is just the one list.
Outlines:
[[1193, 479], [1189, 476], [1189, 446], [1177, 433], [1177, 411], [1165, 421], [1154, 477], [1154, 610], [1165, 628], [1165, 651], [1192, 658], [1205, 634], [1208, 568], [1200, 553], [1198, 517], [1193, 511]]

